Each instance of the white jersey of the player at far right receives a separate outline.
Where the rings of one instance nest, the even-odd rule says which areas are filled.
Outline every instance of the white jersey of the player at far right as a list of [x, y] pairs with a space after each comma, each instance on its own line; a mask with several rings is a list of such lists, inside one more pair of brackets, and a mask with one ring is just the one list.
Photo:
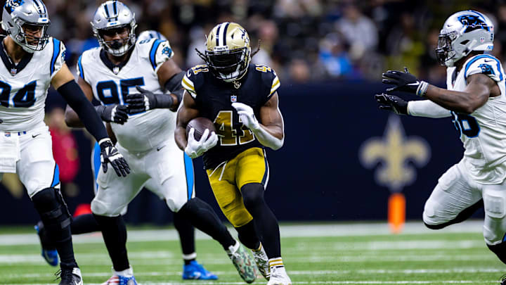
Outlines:
[[457, 73], [447, 69], [448, 90], [464, 91], [467, 77], [488, 75], [500, 89], [470, 115], [452, 112], [455, 127], [464, 144], [464, 161], [472, 178], [481, 184], [500, 184], [506, 178], [506, 86], [505, 72], [494, 56], [480, 54], [469, 58]]

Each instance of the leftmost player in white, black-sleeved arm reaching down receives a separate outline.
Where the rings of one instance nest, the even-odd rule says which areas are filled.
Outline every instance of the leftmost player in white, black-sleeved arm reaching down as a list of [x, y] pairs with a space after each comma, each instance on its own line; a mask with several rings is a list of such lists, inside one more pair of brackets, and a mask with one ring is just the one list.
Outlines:
[[129, 166], [67, 68], [65, 45], [48, 36], [49, 23], [40, 0], [10, 0], [4, 5], [1, 26], [8, 35], [0, 42], [4, 65], [0, 69], [0, 179], [5, 172], [18, 174], [60, 255], [60, 284], [75, 285], [83, 283], [72, 249], [70, 214], [60, 193], [51, 134], [44, 123], [50, 84], [99, 142], [104, 171], [111, 163], [115, 175], [122, 177]]

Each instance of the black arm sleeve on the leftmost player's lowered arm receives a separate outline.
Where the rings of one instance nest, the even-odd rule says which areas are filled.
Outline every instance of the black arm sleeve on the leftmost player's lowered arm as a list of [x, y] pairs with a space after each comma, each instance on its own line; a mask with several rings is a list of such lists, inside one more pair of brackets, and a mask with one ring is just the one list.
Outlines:
[[75, 80], [63, 84], [58, 88], [58, 93], [63, 96], [69, 106], [77, 113], [88, 132], [95, 137], [96, 141], [108, 137], [102, 120], [98, 117], [95, 108], [86, 98], [83, 91]]

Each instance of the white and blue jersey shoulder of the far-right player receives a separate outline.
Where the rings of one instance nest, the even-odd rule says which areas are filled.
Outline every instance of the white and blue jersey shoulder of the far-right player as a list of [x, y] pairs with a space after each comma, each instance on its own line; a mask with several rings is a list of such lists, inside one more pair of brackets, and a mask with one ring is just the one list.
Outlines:
[[500, 61], [490, 54], [480, 54], [469, 58], [464, 65], [464, 76], [467, 77], [474, 74], [484, 74], [491, 77], [495, 82], [499, 82], [504, 78]]

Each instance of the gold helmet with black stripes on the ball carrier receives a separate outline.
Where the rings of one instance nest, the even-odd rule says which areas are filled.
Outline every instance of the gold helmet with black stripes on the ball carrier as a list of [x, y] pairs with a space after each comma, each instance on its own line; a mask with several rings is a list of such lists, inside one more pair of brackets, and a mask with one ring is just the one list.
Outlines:
[[238, 23], [221, 23], [207, 36], [205, 54], [197, 51], [214, 76], [226, 82], [246, 74], [251, 60], [249, 35]]

